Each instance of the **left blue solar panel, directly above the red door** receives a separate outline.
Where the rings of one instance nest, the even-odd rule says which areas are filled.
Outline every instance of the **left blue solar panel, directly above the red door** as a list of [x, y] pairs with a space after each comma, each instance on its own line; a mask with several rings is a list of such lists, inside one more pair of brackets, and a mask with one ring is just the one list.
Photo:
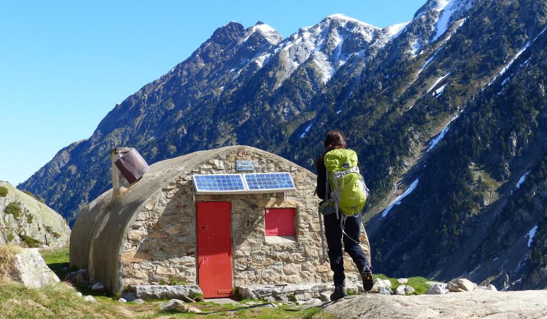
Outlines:
[[241, 174], [195, 174], [196, 195], [247, 193]]

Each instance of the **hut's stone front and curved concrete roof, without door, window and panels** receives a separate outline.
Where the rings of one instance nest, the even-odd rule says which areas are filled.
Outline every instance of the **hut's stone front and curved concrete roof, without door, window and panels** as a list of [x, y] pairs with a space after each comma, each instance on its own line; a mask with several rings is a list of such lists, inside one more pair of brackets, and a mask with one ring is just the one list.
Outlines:
[[[158, 162], [120, 198], [112, 200], [112, 190], [103, 193], [74, 223], [71, 265], [88, 268], [92, 281], [113, 292], [127, 285], [157, 284], [170, 276], [195, 283], [196, 205], [191, 175], [237, 173], [237, 160], [254, 160], [255, 172], [290, 172], [297, 190], [196, 196], [197, 201], [232, 203], [234, 283], [329, 281], [328, 263], [320, 264], [315, 174], [249, 146], [222, 147]], [[272, 243], [272, 238], [265, 237], [264, 209], [276, 207], [296, 210], [293, 240]], [[355, 270], [350, 261], [346, 265]], [[348, 274], [352, 275], [357, 276]]]

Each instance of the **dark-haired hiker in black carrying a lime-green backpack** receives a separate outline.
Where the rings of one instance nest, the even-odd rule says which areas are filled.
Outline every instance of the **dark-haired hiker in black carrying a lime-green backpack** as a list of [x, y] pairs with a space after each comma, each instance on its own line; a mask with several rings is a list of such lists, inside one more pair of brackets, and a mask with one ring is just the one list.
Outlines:
[[364, 290], [370, 291], [374, 286], [368, 257], [359, 246], [361, 213], [369, 190], [360, 174], [356, 152], [346, 149], [344, 133], [330, 131], [323, 145], [325, 151], [316, 161], [316, 193], [322, 199], [319, 220], [323, 215], [330, 269], [334, 273], [330, 300], [337, 300], [347, 296], [342, 241], [359, 269]]

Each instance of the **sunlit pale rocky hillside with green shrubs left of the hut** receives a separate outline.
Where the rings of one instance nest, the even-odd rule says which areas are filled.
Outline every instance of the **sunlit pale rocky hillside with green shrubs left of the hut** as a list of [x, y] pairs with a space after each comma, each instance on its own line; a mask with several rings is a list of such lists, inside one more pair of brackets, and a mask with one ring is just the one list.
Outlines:
[[70, 228], [63, 217], [30, 194], [0, 181], [0, 245], [64, 247]]

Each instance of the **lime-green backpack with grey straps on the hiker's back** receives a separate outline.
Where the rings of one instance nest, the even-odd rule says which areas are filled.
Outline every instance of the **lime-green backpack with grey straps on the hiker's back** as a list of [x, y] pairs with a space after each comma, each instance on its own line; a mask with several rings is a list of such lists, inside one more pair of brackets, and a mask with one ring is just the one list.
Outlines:
[[[323, 156], [327, 168], [328, 200], [323, 203], [323, 215], [341, 211], [356, 216], [363, 210], [369, 190], [357, 166], [357, 153], [349, 149], [335, 149]], [[330, 187], [329, 187], [330, 186]]]

